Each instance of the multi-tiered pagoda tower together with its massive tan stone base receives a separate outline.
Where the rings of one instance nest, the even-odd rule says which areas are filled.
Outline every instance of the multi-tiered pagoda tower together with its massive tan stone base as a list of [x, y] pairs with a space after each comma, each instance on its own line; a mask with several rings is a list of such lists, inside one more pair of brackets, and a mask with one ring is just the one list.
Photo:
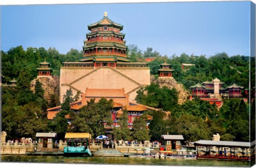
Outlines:
[[[63, 62], [60, 69], [60, 102], [71, 88], [73, 95], [86, 89], [124, 89], [134, 102], [136, 91], [150, 85], [150, 70], [146, 62], [131, 62], [127, 57], [123, 26], [103, 18], [88, 26], [83, 45], [84, 56], [79, 62]], [[102, 94], [103, 95], [103, 94]]]

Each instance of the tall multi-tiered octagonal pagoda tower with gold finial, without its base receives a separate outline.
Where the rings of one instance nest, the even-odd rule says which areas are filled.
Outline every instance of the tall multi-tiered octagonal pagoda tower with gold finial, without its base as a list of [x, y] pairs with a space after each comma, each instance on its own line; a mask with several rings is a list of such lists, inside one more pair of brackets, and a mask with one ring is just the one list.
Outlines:
[[93, 61], [94, 67], [116, 67], [116, 62], [130, 62], [126, 57], [127, 47], [120, 33], [123, 26], [108, 18], [107, 12], [100, 21], [88, 26], [91, 31], [84, 41], [82, 62]]

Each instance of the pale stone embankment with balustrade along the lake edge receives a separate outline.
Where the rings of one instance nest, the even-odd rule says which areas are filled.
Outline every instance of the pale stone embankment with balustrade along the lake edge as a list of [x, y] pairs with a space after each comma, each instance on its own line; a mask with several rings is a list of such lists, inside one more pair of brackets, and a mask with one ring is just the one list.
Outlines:
[[[63, 149], [67, 146], [67, 143], [60, 141], [59, 148], [38, 148], [37, 143], [1, 143], [0, 154], [1, 155], [63, 155]], [[36, 152], [35, 152], [36, 148]], [[90, 143], [90, 150], [95, 156], [118, 156], [118, 155], [128, 155], [133, 154], [146, 154], [151, 153], [151, 150], [158, 150], [159, 143], [152, 144], [150, 142], [138, 143], [138, 144], [128, 144], [128, 143], [116, 143], [114, 148], [108, 147], [103, 148], [103, 143]], [[102, 152], [97, 153], [97, 151], [102, 150]], [[105, 151], [107, 150], [107, 151]], [[109, 151], [111, 150], [111, 151]], [[113, 150], [113, 151], [112, 151]], [[106, 155], [105, 155], [106, 153]]]

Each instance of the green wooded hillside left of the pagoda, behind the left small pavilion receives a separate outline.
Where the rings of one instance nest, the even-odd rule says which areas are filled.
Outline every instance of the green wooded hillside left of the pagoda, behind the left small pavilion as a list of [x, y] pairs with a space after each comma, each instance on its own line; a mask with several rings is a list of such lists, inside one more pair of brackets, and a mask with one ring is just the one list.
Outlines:
[[23, 80], [31, 81], [37, 75], [36, 68], [39, 67], [39, 62], [46, 60], [51, 63], [53, 75], [60, 74], [60, 67], [65, 61], [79, 61], [82, 59], [82, 51], [70, 49], [67, 54], [60, 54], [55, 48], [45, 50], [44, 47], [28, 47], [24, 50], [22, 46], [11, 48], [7, 52], [1, 52], [2, 58], [2, 75], [3, 83], [9, 82], [13, 78], [18, 78], [21, 69], [26, 69], [29, 74]]

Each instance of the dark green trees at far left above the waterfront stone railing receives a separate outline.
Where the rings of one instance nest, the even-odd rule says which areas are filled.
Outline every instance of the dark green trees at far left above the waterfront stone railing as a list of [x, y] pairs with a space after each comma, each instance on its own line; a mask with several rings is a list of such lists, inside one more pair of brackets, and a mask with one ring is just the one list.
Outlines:
[[2, 89], [2, 129], [7, 132], [7, 139], [21, 137], [35, 138], [36, 132], [48, 132], [47, 119], [45, 118], [43, 101], [32, 92], [29, 95], [23, 94], [24, 99], [31, 97], [20, 103], [17, 95], [21, 90], [13, 87], [3, 87]]

